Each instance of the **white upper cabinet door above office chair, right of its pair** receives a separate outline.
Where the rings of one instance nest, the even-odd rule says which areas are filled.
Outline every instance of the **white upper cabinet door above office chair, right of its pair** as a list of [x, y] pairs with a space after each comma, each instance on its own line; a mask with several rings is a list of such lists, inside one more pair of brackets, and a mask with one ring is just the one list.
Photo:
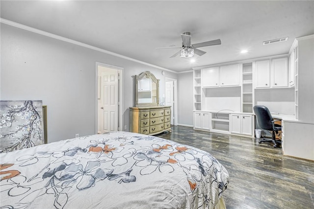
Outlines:
[[288, 57], [271, 60], [271, 87], [288, 87]]

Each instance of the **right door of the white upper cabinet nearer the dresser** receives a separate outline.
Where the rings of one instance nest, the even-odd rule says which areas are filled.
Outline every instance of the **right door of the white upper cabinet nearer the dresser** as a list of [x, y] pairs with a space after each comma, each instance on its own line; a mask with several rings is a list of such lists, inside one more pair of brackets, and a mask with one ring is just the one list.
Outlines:
[[239, 64], [220, 67], [220, 86], [240, 85]]

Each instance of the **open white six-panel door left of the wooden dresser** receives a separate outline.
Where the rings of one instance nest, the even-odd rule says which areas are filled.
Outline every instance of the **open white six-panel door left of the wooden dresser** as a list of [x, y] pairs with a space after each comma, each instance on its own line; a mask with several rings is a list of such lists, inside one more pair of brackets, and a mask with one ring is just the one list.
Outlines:
[[100, 101], [98, 103], [99, 130], [118, 131], [119, 124], [119, 72], [115, 69], [99, 66]]

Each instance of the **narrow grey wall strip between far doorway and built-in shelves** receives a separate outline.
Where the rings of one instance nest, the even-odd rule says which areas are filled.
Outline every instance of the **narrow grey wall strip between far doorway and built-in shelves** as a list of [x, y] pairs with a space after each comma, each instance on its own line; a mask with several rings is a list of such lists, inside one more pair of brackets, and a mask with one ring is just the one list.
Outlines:
[[178, 74], [178, 124], [193, 126], [193, 72]]

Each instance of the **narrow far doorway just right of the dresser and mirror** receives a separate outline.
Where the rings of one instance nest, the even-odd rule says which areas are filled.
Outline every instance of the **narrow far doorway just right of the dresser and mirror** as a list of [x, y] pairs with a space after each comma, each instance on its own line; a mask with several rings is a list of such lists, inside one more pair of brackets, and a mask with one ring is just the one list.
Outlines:
[[171, 121], [170, 125], [178, 125], [178, 105], [177, 105], [177, 79], [165, 78], [165, 105], [171, 106]]

